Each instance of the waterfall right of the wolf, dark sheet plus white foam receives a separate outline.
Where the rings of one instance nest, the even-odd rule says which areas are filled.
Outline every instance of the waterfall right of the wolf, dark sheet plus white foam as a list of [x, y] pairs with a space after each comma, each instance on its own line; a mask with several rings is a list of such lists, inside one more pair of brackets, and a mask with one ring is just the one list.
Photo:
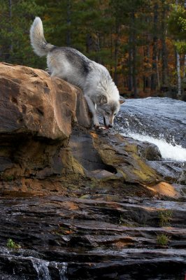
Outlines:
[[127, 99], [115, 118], [115, 128], [124, 137], [155, 144], [164, 160], [186, 161], [186, 102]]

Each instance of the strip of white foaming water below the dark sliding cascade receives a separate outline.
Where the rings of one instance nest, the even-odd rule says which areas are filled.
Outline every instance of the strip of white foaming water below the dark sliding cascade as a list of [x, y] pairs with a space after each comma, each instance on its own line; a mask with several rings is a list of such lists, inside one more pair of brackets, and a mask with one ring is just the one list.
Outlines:
[[180, 145], [172, 145], [166, 142], [164, 139], [155, 139], [148, 135], [141, 135], [128, 132], [127, 134], [122, 133], [125, 137], [131, 137], [138, 141], [147, 141], [152, 144], [155, 144], [162, 155], [162, 158], [165, 160], [177, 160], [184, 162], [186, 161], [186, 148], [183, 148]]

